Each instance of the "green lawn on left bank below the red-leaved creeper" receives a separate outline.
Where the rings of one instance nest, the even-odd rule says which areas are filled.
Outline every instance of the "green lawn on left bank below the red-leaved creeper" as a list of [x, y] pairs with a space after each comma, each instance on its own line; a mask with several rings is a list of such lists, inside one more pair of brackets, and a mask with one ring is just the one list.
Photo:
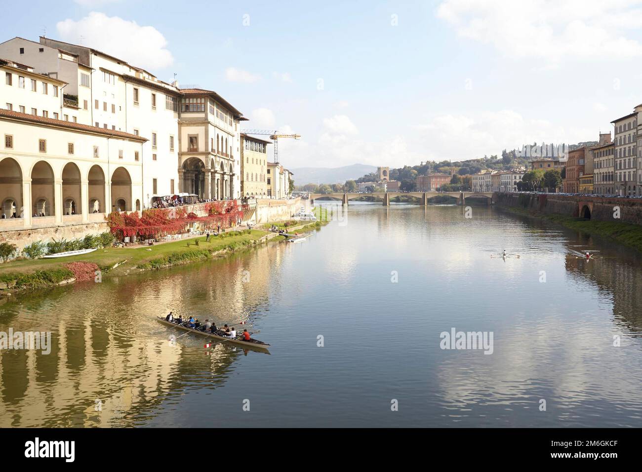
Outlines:
[[[89, 254], [68, 258], [10, 261], [0, 265], [0, 281], [11, 281], [17, 279], [19, 275], [40, 273], [42, 277], [39, 278], [44, 280], [45, 283], [43, 284], [47, 284], [46, 282], [52, 281], [51, 277], [48, 277], [51, 274], [53, 274], [53, 279], [59, 279], [60, 277], [64, 279], [66, 271], [64, 265], [77, 261], [95, 263], [103, 270], [109, 270], [117, 263], [126, 260], [125, 264], [119, 265], [119, 267], [111, 271], [113, 274], [123, 274], [132, 268], [158, 268], [176, 263], [207, 259], [213, 252], [222, 249], [234, 250], [248, 247], [253, 241], [260, 240], [265, 234], [265, 231], [252, 230], [249, 233], [234, 232], [234, 234], [228, 233], [227, 236], [211, 236], [207, 243], [205, 242], [205, 236], [198, 236], [188, 240], [135, 249], [126, 247], [97, 249]], [[196, 241], [198, 241], [198, 245], [195, 244]]]

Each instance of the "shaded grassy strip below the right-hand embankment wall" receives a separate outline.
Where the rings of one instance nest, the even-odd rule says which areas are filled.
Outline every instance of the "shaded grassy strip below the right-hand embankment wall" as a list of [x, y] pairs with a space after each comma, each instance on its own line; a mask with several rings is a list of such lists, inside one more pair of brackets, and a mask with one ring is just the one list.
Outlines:
[[498, 206], [498, 208], [530, 218], [539, 218], [540, 220], [559, 223], [575, 231], [611, 238], [618, 243], [633, 247], [642, 252], [642, 226], [640, 225], [621, 222], [598, 222], [595, 220], [584, 220], [584, 218], [573, 218], [563, 214], [544, 214], [522, 207]]

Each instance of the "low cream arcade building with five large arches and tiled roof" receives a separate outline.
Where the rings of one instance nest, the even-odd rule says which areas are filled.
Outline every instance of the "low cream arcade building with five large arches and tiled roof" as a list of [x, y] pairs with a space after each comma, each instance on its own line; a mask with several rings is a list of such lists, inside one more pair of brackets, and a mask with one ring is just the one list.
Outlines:
[[0, 232], [140, 210], [143, 137], [0, 110]]

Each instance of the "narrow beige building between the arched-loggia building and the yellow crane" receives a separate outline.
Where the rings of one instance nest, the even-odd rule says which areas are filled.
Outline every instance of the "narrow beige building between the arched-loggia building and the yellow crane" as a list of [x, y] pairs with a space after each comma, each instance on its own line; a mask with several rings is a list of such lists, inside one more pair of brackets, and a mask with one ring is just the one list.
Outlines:
[[268, 197], [268, 144], [272, 143], [241, 133], [241, 197]]

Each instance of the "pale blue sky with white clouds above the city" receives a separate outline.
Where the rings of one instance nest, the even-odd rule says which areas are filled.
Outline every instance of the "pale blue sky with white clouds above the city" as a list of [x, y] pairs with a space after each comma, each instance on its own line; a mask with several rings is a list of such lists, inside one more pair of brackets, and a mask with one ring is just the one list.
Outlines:
[[[35, 0], [13, 36], [78, 42], [213, 89], [290, 168], [577, 143], [642, 102], [639, 1]], [[322, 87], [320, 87], [322, 83]]]

